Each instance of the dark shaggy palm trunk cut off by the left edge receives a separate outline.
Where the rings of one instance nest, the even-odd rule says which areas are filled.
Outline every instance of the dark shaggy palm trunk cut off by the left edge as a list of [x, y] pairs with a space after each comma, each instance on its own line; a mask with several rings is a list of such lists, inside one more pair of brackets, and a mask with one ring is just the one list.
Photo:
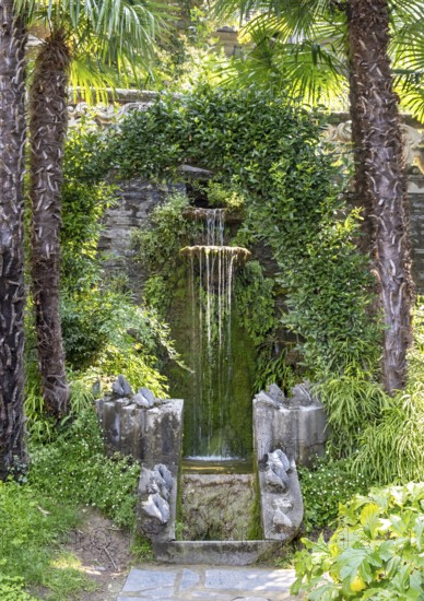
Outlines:
[[25, 42], [13, 0], [0, 1], [0, 480], [25, 461], [24, 238]]

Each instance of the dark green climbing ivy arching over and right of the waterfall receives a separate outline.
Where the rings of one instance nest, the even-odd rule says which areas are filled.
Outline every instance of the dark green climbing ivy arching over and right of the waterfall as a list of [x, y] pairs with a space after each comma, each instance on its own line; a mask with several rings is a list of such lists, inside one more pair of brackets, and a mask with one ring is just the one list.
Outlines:
[[[319, 141], [317, 116], [263, 92], [202, 87], [162, 95], [113, 134], [111, 160], [123, 176], [175, 179], [189, 163], [246, 198], [244, 241], [263, 240], [279, 264], [288, 311], [315, 377], [378, 358], [367, 258], [356, 251], [358, 214]], [[343, 350], [343, 352], [341, 352]], [[361, 355], [361, 356], [360, 356]]]

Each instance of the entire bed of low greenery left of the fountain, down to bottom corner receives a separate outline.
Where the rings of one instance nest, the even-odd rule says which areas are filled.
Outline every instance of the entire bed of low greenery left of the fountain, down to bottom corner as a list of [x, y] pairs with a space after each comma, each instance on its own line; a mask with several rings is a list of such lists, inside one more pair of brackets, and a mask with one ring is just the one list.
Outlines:
[[139, 466], [106, 456], [92, 406], [30, 451], [25, 481], [0, 482], [0, 599], [33, 601], [43, 590], [49, 601], [75, 600], [96, 585], [79, 558], [63, 551], [67, 535], [79, 525], [82, 505], [131, 529]]

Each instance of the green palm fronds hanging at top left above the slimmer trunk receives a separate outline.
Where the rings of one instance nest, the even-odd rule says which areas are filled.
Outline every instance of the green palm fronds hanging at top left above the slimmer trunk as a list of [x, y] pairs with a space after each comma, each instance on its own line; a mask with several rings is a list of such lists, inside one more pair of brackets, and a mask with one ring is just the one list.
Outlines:
[[149, 71], [156, 37], [173, 15], [165, 0], [16, 0], [16, 9], [46, 37], [66, 34], [75, 61], [71, 80], [86, 91], [91, 71], [92, 85], [103, 87], [118, 73], [122, 84], [122, 78], [134, 81]]

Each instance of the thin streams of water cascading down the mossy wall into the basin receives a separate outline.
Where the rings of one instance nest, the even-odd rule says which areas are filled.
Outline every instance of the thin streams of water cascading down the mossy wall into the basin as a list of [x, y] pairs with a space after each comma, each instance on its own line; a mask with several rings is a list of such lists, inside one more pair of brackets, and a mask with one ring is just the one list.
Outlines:
[[[186, 453], [214, 460], [245, 457], [235, 421], [243, 420], [237, 400], [233, 352], [233, 284], [235, 268], [246, 261], [249, 251], [224, 245], [224, 210], [196, 210], [204, 223], [204, 244], [186, 247], [189, 259], [189, 299], [192, 331], [190, 337], [192, 390], [188, 400]], [[237, 369], [239, 369], [239, 365]], [[249, 402], [249, 399], [248, 399]], [[248, 405], [247, 405], [248, 406]], [[247, 408], [246, 408], [247, 409]]]

